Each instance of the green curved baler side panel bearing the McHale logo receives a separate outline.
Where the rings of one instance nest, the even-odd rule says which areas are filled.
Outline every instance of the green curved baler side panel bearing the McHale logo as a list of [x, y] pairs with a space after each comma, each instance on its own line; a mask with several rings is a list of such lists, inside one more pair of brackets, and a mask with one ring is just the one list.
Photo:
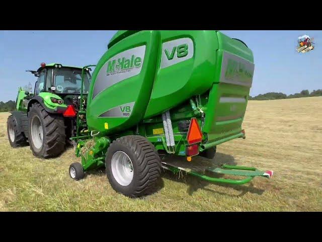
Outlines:
[[[140, 31], [120, 40], [102, 56], [93, 73], [88, 98], [90, 130], [101, 135], [116, 133], [143, 119], [152, 90], [159, 41], [159, 31]], [[135, 62], [137, 57], [142, 58], [141, 62], [140, 59]], [[120, 65], [118, 60], [123, 62], [123, 58], [125, 64]], [[130, 63], [126, 64], [127, 59]], [[133, 66], [140, 63], [141, 66]]]

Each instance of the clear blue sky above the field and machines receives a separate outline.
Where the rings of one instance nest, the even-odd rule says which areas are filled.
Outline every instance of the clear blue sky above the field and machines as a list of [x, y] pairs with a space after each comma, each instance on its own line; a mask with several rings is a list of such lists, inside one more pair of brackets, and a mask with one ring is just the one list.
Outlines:
[[[36, 77], [40, 63], [96, 65], [115, 30], [106, 31], [0, 31], [0, 101], [16, 100], [19, 86]], [[225, 31], [243, 40], [254, 52], [255, 74], [251, 95], [266, 92], [291, 94], [322, 88], [322, 31]], [[314, 37], [315, 49], [295, 51], [297, 37]]]

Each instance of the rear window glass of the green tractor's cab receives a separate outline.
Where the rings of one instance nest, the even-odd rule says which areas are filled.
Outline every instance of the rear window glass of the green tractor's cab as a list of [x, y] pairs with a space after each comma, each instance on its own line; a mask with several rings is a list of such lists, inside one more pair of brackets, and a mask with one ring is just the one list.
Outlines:
[[[82, 69], [76, 68], [55, 68], [54, 85], [56, 93], [78, 94], [81, 93]], [[84, 73], [83, 93], [89, 92], [91, 75], [89, 72]]]

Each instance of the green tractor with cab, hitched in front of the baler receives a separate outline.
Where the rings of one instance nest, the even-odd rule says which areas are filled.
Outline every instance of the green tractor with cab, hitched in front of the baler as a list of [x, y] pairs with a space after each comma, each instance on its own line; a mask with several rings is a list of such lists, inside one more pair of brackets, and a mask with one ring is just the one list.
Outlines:
[[12, 147], [30, 145], [40, 158], [60, 155], [76, 134], [76, 112], [80, 94], [89, 92], [90, 69], [41, 64], [34, 93], [19, 88], [16, 111], [8, 117], [8, 138]]

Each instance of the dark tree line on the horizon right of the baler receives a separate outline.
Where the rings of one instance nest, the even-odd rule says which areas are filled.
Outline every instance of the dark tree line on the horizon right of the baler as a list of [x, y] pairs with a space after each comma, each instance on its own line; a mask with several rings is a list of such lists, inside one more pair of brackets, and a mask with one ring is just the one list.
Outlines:
[[282, 92], [268, 92], [265, 94], [259, 94], [256, 97], [249, 96], [249, 100], [274, 100], [274, 99], [287, 99], [287, 98], [299, 98], [299, 97], [317, 97], [322, 96], [322, 89], [313, 90], [311, 93], [308, 90], [302, 90], [300, 93], [294, 93], [286, 95]]

